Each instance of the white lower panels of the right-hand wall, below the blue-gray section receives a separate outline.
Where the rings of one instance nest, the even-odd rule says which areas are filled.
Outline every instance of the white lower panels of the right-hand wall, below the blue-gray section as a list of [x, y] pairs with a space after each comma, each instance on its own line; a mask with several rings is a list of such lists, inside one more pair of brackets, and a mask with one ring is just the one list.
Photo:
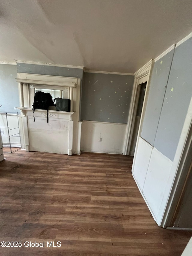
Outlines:
[[[166, 187], [172, 164], [169, 158], [147, 141], [138, 138], [132, 173], [155, 221], [159, 215], [162, 217], [164, 212], [161, 209], [163, 198], [169, 197], [170, 191], [167, 191]], [[159, 222], [157, 224], [160, 225]]]

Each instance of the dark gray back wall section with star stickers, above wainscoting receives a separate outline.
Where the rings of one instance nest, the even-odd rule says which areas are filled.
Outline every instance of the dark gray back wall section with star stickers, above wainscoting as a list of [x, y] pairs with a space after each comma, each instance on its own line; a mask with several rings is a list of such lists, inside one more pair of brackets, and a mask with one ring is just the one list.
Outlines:
[[127, 123], [134, 76], [85, 73], [81, 119]]

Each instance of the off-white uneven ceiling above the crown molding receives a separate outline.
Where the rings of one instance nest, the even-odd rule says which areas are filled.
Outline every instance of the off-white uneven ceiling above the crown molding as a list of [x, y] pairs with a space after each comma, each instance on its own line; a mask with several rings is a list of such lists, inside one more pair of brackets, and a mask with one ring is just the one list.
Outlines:
[[0, 61], [134, 73], [191, 31], [191, 0], [1, 0]]

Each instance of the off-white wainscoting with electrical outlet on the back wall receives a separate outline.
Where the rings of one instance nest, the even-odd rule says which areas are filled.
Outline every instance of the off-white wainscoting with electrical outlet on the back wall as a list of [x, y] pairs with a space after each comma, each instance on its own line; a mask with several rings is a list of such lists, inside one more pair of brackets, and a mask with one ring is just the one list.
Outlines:
[[126, 127], [127, 124], [83, 121], [81, 151], [123, 154]]

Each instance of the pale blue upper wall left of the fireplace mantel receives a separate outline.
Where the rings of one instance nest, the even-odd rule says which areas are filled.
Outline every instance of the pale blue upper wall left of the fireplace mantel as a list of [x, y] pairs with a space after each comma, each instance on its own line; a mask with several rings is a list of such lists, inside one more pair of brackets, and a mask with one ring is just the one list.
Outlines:
[[17, 112], [19, 91], [16, 65], [0, 64], [0, 112]]

